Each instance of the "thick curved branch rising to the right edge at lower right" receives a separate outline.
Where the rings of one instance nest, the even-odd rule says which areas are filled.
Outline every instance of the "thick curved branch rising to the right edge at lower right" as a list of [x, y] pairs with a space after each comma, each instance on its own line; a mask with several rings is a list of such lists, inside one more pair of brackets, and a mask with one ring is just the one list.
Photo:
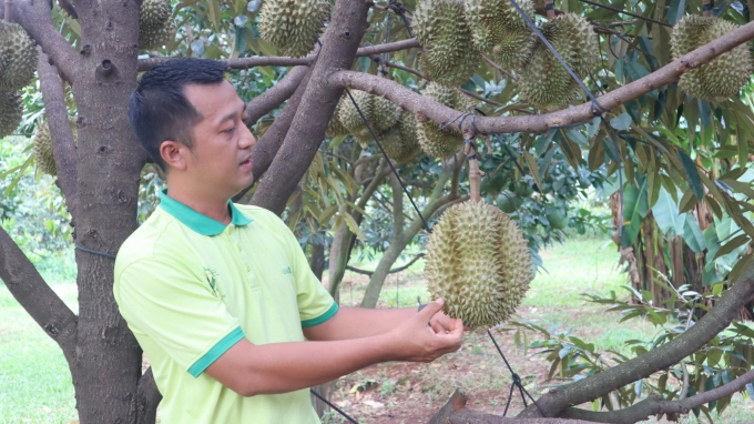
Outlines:
[[[599, 374], [550, 391], [537, 402], [548, 416], [557, 416], [571, 405], [592, 401], [604, 393], [644, 378], [666, 369], [700, 350], [725, 330], [738, 311], [754, 297], [754, 261], [738, 280], [695, 325], [672, 341]], [[539, 416], [536, 407], [528, 407], [519, 416]]]

